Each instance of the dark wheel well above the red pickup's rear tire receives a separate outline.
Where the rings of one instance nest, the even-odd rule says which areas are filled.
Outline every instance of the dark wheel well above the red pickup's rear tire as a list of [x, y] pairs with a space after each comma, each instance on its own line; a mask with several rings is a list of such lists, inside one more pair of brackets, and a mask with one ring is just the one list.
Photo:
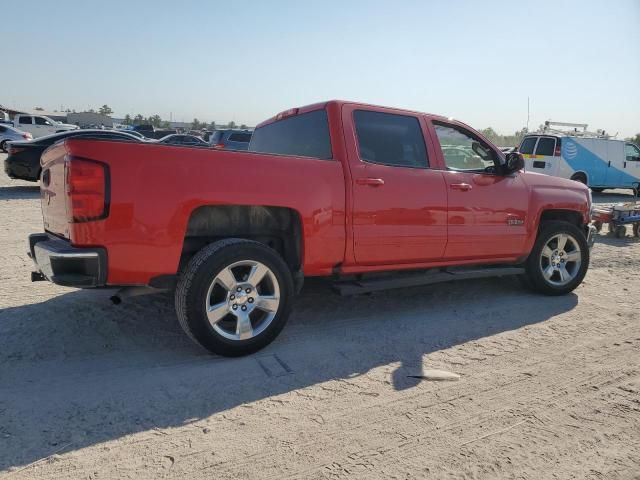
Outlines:
[[189, 217], [181, 265], [204, 246], [223, 238], [246, 238], [276, 250], [293, 272], [302, 268], [302, 222], [285, 207], [209, 205]]

